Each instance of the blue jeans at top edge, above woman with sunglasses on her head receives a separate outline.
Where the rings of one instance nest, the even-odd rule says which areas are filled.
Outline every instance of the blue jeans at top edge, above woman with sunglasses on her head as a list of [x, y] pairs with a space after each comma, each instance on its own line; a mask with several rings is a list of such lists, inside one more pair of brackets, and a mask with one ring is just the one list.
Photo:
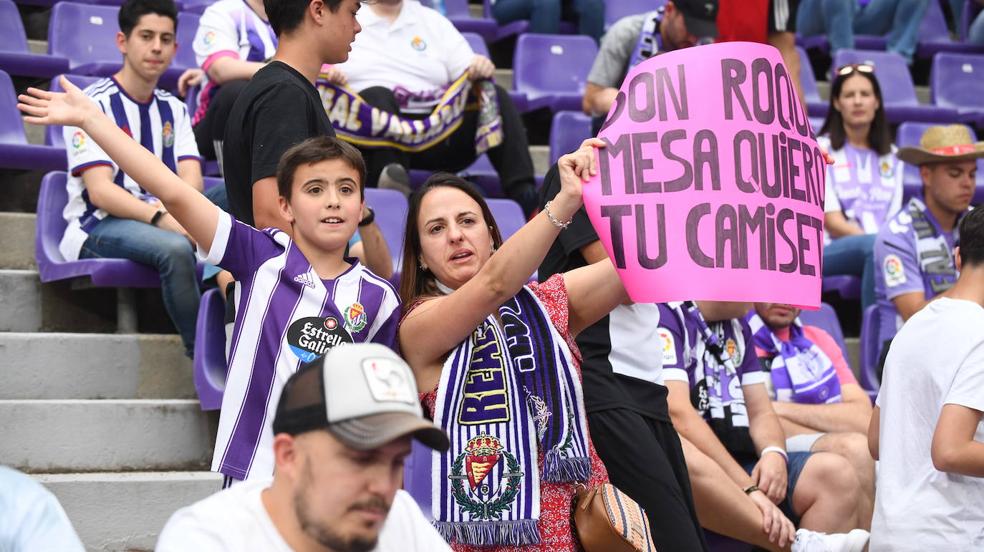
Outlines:
[[833, 52], [854, 48], [854, 33], [888, 35], [888, 50], [911, 63], [929, 1], [871, 0], [862, 8], [857, 0], [803, 0], [796, 29], [802, 36], [826, 33]]

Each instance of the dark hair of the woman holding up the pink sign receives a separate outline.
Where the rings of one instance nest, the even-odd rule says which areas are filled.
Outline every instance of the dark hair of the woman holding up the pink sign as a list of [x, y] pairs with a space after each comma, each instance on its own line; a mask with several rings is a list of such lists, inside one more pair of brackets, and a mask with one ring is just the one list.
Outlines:
[[417, 297], [427, 295], [437, 295], [437, 286], [434, 283], [434, 275], [429, 270], [424, 270], [420, 266], [420, 231], [417, 223], [420, 219], [420, 206], [424, 202], [424, 196], [436, 188], [454, 188], [468, 195], [475, 200], [482, 209], [482, 218], [485, 225], [489, 227], [492, 234], [492, 246], [496, 249], [502, 245], [502, 233], [499, 226], [495, 223], [492, 210], [478, 190], [470, 182], [449, 173], [435, 173], [424, 182], [416, 192], [410, 196], [410, 208], [407, 211], [407, 227], [403, 234], [403, 263], [400, 273], [400, 301], [404, 308], [409, 308], [413, 300]]

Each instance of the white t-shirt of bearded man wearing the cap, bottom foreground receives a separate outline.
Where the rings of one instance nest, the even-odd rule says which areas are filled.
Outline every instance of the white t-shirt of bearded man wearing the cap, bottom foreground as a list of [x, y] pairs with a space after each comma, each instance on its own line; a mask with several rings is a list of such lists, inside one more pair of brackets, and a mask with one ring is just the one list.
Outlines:
[[[290, 552], [263, 505], [269, 480], [236, 485], [171, 516], [157, 540], [157, 552]], [[440, 533], [406, 491], [399, 490], [373, 552], [449, 551]]]

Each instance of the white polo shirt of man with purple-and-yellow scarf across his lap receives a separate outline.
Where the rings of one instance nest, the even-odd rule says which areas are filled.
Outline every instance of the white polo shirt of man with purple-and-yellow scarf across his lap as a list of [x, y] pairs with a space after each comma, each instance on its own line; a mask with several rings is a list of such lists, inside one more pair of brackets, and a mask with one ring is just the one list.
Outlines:
[[348, 61], [335, 67], [356, 92], [371, 86], [393, 90], [406, 112], [429, 112], [474, 56], [448, 18], [419, 2], [404, 2], [392, 23], [373, 13], [371, 4], [356, 17], [362, 32]]

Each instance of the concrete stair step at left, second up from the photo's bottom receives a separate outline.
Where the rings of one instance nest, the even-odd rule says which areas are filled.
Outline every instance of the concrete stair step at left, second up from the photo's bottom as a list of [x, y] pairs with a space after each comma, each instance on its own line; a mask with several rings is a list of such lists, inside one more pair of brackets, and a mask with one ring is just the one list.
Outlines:
[[0, 463], [32, 473], [206, 470], [213, 419], [186, 399], [0, 401]]

